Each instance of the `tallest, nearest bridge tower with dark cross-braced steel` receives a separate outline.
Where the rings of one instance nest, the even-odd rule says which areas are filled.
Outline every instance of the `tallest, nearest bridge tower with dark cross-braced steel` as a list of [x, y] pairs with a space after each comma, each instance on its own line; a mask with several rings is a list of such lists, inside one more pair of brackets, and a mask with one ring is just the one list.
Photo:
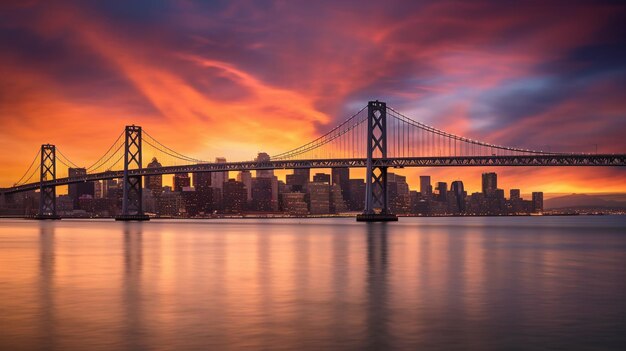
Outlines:
[[387, 198], [387, 167], [377, 160], [387, 158], [387, 104], [367, 104], [367, 169], [365, 175], [365, 211], [356, 217], [359, 222], [397, 221], [389, 211]]

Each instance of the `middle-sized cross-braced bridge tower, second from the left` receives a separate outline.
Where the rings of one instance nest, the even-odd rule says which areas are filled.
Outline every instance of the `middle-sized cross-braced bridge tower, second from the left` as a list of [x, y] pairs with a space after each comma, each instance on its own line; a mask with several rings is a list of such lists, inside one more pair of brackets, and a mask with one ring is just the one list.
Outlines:
[[141, 127], [126, 126], [124, 132], [124, 178], [122, 214], [118, 221], [147, 221], [143, 213], [141, 175], [129, 175], [129, 171], [141, 170]]

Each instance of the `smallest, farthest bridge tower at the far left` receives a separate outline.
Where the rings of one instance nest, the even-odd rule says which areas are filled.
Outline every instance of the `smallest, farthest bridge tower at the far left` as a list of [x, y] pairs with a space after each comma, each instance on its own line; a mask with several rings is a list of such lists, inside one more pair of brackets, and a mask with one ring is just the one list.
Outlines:
[[57, 215], [56, 187], [44, 186], [44, 182], [56, 179], [56, 147], [51, 144], [41, 145], [41, 163], [39, 168], [39, 213], [36, 219], [61, 219]]

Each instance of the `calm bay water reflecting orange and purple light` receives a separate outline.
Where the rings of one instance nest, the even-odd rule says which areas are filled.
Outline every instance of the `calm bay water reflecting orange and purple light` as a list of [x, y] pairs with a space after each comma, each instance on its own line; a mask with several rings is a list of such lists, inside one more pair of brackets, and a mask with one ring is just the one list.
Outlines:
[[626, 349], [626, 217], [0, 220], [1, 350]]

